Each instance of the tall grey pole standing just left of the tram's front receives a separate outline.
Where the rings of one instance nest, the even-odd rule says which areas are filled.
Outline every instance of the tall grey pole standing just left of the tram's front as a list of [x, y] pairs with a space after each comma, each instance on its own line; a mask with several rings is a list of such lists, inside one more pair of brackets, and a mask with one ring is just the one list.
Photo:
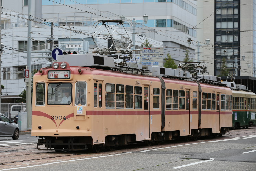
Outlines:
[[27, 20], [27, 69], [29, 69], [29, 82], [27, 82], [27, 94], [26, 94], [26, 110], [27, 110], [27, 129], [31, 129], [31, 118], [32, 118], [32, 108], [31, 108], [31, 7], [32, 0], [28, 0], [28, 20]]

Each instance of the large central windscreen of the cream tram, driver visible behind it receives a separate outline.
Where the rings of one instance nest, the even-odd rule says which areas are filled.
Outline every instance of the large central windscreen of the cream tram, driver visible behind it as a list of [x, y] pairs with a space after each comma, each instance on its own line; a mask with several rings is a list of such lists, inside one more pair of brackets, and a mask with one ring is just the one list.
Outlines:
[[50, 83], [48, 84], [49, 105], [69, 105], [72, 102], [72, 84], [71, 83]]

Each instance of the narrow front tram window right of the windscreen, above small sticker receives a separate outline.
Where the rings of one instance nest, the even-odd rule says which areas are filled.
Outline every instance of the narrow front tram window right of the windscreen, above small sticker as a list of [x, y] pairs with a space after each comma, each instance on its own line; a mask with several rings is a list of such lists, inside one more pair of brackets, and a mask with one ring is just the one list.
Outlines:
[[76, 105], [86, 105], [86, 89], [87, 83], [85, 81], [76, 82]]

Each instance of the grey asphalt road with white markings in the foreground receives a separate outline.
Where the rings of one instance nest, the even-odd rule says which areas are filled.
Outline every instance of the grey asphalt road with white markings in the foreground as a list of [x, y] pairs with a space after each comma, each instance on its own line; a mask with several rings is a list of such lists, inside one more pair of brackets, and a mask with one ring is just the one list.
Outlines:
[[[21, 135], [21, 140], [34, 137]], [[2, 144], [2, 140], [0, 140]], [[35, 145], [21, 145], [30, 146]], [[2, 147], [0, 147], [2, 148]], [[7, 148], [7, 147], [6, 147]], [[12, 147], [13, 148], [13, 147]], [[29, 149], [30, 149], [29, 148]], [[30, 151], [27, 151], [29, 153]], [[9, 149], [10, 150], [10, 149]], [[31, 150], [31, 151], [34, 151]], [[31, 152], [30, 152], [31, 153]], [[6, 153], [0, 153], [0, 156]], [[59, 155], [43, 162], [13, 163], [15, 170], [256, 170], [256, 127], [233, 130], [231, 135], [198, 141], [170, 141], [163, 145], [121, 148], [113, 152], [47, 152], [35, 156]], [[26, 156], [26, 153], [24, 154]], [[7, 155], [7, 157], [10, 157]], [[0, 157], [0, 161], [2, 157]], [[32, 161], [32, 160], [31, 160]], [[41, 162], [42, 161], [42, 162]], [[10, 165], [9, 163], [8, 165]], [[4, 166], [4, 165], [2, 165]], [[0, 165], [0, 171], [1, 169]]]

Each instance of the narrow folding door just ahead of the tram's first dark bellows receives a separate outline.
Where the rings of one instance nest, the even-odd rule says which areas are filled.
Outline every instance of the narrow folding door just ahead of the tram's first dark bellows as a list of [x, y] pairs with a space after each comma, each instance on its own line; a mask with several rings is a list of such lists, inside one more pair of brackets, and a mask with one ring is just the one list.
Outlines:
[[150, 137], [150, 124], [152, 124], [150, 121], [150, 115], [149, 115], [149, 95], [148, 95], [148, 90], [149, 86], [144, 86], [144, 113], [145, 113], [145, 127], [144, 127], [144, 132], [145, 132], [145, 137], [144, 138], [149, 138]]

